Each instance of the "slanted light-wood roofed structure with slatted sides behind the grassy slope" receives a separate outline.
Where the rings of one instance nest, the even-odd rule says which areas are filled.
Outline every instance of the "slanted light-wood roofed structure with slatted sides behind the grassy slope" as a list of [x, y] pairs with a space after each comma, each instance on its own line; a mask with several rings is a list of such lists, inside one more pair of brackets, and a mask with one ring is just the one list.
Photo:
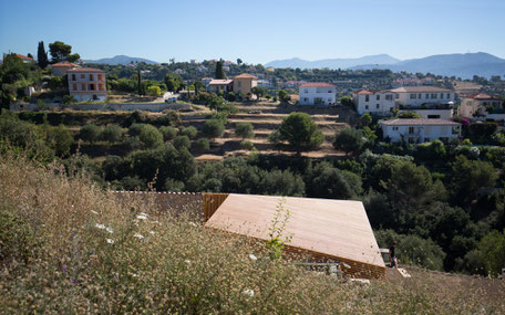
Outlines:
[[[205, 227], [269, 240], [280, 197], [204, 193]], [[287, 252], [308, 254], [311, 261], [340, 262], [353, 277], [385, 276], [385, 266], [363, 203], [350, 200], [285, 198], [290, 219]]]

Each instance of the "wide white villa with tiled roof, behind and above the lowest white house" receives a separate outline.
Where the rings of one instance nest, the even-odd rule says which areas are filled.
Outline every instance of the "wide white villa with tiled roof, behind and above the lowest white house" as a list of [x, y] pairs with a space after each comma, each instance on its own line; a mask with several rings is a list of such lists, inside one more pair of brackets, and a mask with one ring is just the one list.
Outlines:
[[403, 86], [391, 92], [396, 94], [395, 103], [399, 106], [420, 107], [454, 102], [454, 91], [435, 86]]

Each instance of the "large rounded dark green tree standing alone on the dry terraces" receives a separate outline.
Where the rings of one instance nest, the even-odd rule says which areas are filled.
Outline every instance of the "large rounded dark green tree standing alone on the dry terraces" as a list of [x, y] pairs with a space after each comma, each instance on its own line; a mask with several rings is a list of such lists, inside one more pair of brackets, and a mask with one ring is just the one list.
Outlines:
[[323, 135], [318, 125], [307, 113], [295, 112], [289, 114], [282, 119], [279, 133], [281, 139], [287, 140], [297, 150], [297, 154], [305, 149], [319, 147], [323, 141]]

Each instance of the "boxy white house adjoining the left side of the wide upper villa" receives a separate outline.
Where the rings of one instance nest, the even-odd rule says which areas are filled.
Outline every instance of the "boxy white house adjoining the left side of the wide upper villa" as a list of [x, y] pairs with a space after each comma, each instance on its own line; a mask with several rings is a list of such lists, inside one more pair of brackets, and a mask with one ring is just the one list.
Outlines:
[[391, 91], [358, 90], [352, 93], [352, 101], [360, 115], [364, 113], [388, 115], [394, 108], [394, 96]]

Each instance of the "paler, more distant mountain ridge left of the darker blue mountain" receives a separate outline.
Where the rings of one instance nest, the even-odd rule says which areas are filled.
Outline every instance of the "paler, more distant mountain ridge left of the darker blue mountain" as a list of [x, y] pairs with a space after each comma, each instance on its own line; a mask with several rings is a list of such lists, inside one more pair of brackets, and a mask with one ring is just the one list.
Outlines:
[[393, 64], [400, 60], [392, 57], [388, 54], [367, 55], [355, 59], [324, 59], [317, 61], [307, 61], [299, 57], [288, 60], [276, 60], [265, 64], [265, 66], [272, 67], [300, 67], [300, 69], [347, 69], [360, 64]]

